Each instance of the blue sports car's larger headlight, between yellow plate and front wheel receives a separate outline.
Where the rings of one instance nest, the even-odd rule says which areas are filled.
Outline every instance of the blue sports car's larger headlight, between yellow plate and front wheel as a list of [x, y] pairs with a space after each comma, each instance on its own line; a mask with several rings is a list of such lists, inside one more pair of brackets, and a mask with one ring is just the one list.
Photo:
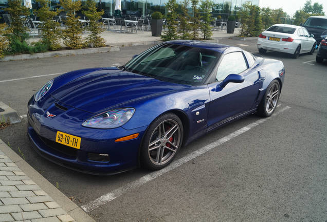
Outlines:
[[82, 126], [90, 128], [117, 128], [128, 122], [135, 112], [134, 108], [119, 108], [94, 116]]

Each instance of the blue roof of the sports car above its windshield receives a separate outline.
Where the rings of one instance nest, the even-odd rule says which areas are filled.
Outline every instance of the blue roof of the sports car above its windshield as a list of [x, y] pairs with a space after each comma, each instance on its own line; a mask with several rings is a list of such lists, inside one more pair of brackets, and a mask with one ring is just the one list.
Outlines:
[[220, 52], [223, 54], [226, 52], [232, 52], [232, 51], [242, 51], [242, 49], [239, 47], [218, 44], [218, 43], [212, 43], [212, 42], [196, 41], [196, 40], [173, 40], [173, 41], [168, 41], [165, 43], [210, 49], [210, 50], [217, 51], [217, 52]]

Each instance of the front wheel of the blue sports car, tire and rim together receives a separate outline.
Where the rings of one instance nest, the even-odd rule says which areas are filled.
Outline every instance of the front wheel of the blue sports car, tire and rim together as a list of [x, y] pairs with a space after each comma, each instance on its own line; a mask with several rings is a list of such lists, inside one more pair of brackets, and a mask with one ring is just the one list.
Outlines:
[[183, 123], [175, 114], [167, 113], [155, 119], [142, 140], [141, 166], [149, 170], [160, 170], [169, 165], [180, 149], [183, 133]]

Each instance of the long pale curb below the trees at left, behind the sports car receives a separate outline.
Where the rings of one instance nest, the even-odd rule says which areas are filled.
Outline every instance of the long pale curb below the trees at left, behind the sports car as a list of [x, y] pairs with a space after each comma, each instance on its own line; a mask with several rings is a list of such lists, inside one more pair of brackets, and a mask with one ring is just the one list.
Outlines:
[[61, 50], [61, 51], [50, 51], [50, 52], [40, 52], [34, 54], [19, 54], [19, 55], [6, 55], [0, 62], [12, 61], [12, 60], [28, 60], [28, 59], [40, 59], [49, 57], [62, 57], [65, 55], [76, 55], [76, 54], [90, 54], [90, 53], [101, 53], [101, 52], [111, 52], [120, 51], [118, 46], [109, 46], [101, 48], [88, 48], [88, 49], [71, 49], [71, 50]]

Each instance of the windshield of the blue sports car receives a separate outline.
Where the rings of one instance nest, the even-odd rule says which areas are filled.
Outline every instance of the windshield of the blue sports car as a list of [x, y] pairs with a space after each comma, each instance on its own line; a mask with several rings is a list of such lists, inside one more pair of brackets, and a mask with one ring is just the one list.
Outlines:
[[124, 68], [161, 81], [201, 85], [219, 57], [213, 50], [163, 43], [144, 51]]

